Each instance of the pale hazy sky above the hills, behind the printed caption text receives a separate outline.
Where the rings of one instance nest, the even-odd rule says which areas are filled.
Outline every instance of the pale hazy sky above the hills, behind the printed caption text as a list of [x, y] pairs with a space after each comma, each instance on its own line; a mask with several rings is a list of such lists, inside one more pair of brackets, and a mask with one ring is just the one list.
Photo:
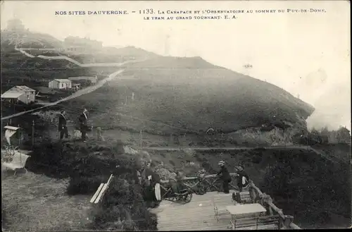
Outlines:
[[[151, 8], [275, 9], [276, 13], [238, 13], [234, 20], [144, 20], [147, 15], [138, 13]], [[287, 13], [287, 9], [305, 8], [325, 9], [325, 13]], [[284, 13], [277, 13], [278, 9]], [[130, 13], [55, 15], [56, 11], [110, 10]], [[282, 87], [312, 104], [316, 110], [308, 118], [310, 127], [327, 124], [351, 130], [349, 1], [1, 1], [1, 29], [13, 17], [31, 31], [61, 40], [73, 35], [97, 39], [104, 46], [131, 45], [161, 55], [201, 56]], [[246, 64], [252, 68], [244, 68]]]

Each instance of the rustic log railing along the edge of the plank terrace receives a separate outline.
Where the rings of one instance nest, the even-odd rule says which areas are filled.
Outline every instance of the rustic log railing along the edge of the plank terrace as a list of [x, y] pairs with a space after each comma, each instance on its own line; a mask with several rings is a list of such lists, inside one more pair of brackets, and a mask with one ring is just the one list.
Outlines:
[[[232, 178], [232, 181], [230, 183], [230, 189], [238, 190], [237, 186], [232, 184], [232, 183], [237, 183], [235, 179], [236, 176], [238, 176], [237, 173], [230, 173], [230, 175]], [[162, 185], [166, 185], [168, 183], [170, 183], [170, 181], [165, 181], [165, 180], [161, 181]], [[220, 181], [220, 179], [216, 175], [203, 176], [203, 178], [184, 177], [182, 178], [182, 183], [184, 185], [187, 185], [195, 192], [197, 191], [198, 188], [206, 188], [206, 192], [220, 190], [222, 188], [221, 187], [222, 181]], [[284, 212], [282, 212], [282, 209], [279, 209], [272, 202], [272, 198], [270, 197], [270, 195], [262, 193], [262, 191], [256, 185], [254, 185], [253, 181], [250, 181], [249, 183], [249, 193], [251, 195], [251, 200], [253, 202], [258, 202], [262, 204], [264, 207], [266, 207], [270, 215], [278, 214], [282, 219], [281, 220], [282, 226], [284, 226], [284, 228], [301, 229], [299, 226], [294, 224], [293, 222], [294, 216], [285, 215]]]

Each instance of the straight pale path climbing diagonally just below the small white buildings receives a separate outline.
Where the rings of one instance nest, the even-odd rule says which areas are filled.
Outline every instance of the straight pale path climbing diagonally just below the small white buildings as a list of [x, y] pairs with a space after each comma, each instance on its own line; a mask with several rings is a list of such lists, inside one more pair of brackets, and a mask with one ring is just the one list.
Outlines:
[[13, 118], [13, 117], [16, 117], [16, 116], [27, 114], [27, 113], [30, 113], [30, 112], [33, 112], [33, 111], [37, 111], [39, 109], [44, 109], [44, 108], [49, 107], [49, 106], [54, 106], [54, 105], [56, 105], [56, 104], [58, 104], [60, 102], [65, 102], [65, 101], [67, 101], [69, 99], [73, 99], [73, 98], [76, 98], [76, 97], [80, 97], [80, 96], [82, 96], [84, 94], [88, 94], [89, 92], [93, 92], [94, 90], [97, 90], [99, 87], [103, 86], [108, 81], [113, 80], [114, 78], [116, 78], [122, 72], [123, 72], [123, 70], [119, 70], [119, 71], [116, 71], [115, 73], [111, 73], [110, 75], [108, 75], [108, 78], [104, 78], [103, 80], [99, 80], [99, 82], [96, 83], [96, 85], [92, 85], [92, 86], [89, 86], [89, 87], [84, 88], [82, 90], [78, 90], [74, 94], [72, 94], [72, 95], [70, 95], [68, 97], [65, 97], [63, 99], [60, 99], [60, 100], [58, 100], [56, 102], [51, 102], [51, 103], [46, 104], [45, 106], [38, 107], [36, 109], [31, 109], [29, 111], [23, 111], [23, 112], [20, 112], [18, 114], [12, 114], [10, 116], [6, 116], [4, 118], [1, 118], [1, 120], [5, 120], [5, 119], [8, 119], [8, 118]]

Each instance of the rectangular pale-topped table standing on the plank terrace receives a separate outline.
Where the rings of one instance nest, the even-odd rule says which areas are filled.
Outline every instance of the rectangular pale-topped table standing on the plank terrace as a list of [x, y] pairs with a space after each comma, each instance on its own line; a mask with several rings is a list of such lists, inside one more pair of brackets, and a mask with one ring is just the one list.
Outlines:
[[266, 209], [258, 203], [229, 205], [226, 209], [231, 214], [232, 224], [234, 224], [234, 219], [236, 219], [237, 216], [244, 214], [256, 214], [256, 216], [259, 216], [258, 214], [266, 212]]

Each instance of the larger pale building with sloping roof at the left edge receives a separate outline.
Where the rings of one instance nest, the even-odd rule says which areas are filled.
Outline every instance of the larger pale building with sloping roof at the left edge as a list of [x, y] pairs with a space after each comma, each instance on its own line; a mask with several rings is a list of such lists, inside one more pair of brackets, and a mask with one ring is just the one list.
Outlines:
[[35, 101], [35, 90], [25, 85], [18, 85], [1, 94], [1, 99], [11, 103], [23, 102], [30, 104]]

